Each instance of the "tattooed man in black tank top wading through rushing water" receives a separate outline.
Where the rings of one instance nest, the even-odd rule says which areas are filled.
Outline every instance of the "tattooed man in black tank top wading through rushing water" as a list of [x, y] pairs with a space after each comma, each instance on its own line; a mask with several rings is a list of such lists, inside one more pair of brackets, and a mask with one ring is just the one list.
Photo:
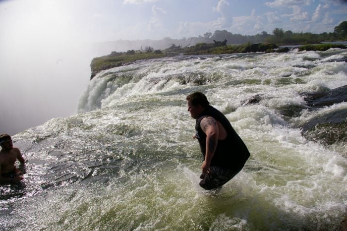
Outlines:
[[204, 159], [199, 184], [207, 190], [219, 188], [242, 170], [250, 154], [229, 120], [210, 106], [203, 93], [190, 94], [186, 100], [190, 116], [196, 119], [193, 138], [198, 139]]

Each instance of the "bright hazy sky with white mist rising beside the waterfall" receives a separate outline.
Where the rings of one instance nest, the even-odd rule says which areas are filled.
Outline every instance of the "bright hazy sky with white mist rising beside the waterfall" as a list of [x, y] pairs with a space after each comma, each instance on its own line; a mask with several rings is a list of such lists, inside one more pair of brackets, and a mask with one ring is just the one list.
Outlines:
[[0, 0], [0, 133], [77, 113], [94, 43], [227, 30], [323, 33], [347, 0]]

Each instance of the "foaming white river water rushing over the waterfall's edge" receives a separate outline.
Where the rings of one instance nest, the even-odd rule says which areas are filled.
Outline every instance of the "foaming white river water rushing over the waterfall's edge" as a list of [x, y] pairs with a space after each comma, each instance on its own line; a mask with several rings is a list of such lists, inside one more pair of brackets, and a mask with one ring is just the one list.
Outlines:
[[[99, 73], [76, 116], [13, 137], [23, 184], [1, 186], [1, 230], [338, 230], [347, 145], [307, 140], [301, 92], [347, 85], [346, 50], [137, 61]], [[247, 145], [218, 191], [198, 186], [201, 154], [185, 96], [203, 91]], [[261, 95], [261, 101], [245, 103]]]

